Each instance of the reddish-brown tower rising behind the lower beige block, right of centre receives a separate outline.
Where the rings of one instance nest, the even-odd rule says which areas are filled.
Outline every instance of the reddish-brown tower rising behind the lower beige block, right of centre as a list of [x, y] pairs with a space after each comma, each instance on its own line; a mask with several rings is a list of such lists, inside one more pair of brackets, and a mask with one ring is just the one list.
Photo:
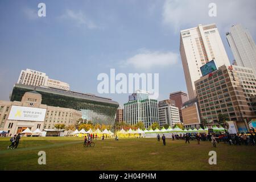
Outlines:
[[175, 101], [175, 106], [179, 108], [180, 121], [183, 122], [181, 106], [188, 101], [188, 94], [182, 91], [170, 93], [170, 100]]

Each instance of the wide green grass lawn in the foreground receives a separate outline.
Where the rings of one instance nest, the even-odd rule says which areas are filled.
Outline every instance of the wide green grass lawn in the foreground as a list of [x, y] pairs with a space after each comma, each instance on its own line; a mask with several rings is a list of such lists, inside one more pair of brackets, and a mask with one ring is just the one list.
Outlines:
[[[256, 170], [255, 146], [167, 139], [94, 140], [84, 148], [75, 137], [23, 137], [18, 149], [7, 150], [9, 138], [0, 138], [0, 170]], [[217, 152], [210, 165], [209, 151]], [[38, 164], [38, 152], [46, 152], [46, 165]]]

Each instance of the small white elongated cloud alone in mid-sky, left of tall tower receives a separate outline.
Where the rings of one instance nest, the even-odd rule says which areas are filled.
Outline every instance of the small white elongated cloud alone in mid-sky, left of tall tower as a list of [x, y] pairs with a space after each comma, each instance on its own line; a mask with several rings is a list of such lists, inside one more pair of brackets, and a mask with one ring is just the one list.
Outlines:
[[155, 67], [168, 67], [178, 62], [179, 54], [174, 52], [140, 50], [137, 55], [121, 61], [121, 67], [132, 65], [136, 69], [150, 69]]

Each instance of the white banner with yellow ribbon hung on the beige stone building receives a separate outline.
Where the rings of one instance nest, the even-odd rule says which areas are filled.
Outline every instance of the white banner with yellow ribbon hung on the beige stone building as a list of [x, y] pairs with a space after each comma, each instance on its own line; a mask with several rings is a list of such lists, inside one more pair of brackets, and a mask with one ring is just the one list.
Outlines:
[[11, 106], [9, 120], [17, 121], [44, 121], [46, 109], [35, 107]]

